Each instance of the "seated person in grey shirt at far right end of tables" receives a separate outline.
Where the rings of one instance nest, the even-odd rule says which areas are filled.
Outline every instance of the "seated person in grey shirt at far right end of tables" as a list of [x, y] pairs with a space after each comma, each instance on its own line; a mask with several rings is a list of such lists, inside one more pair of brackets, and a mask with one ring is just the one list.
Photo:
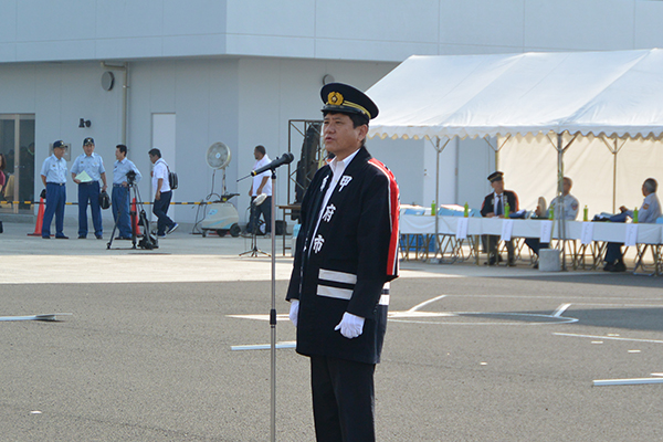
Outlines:
[[[659, 202], [659, 197], [656, 197], [656, 189], [659, 188], [659, 183], [653, 178], [648, 178], [642, 183], [642, 194], [644, 196], [644, 201], [642, 201], [642, 207], [638, 211], [638, 222], [639, 223], [654, 223], [656, 219], [661, 217], [661, 203]], [[619, 214], [610, 218], [612, 222], [625, 222], [627, 218], [633, 218], [633, 211], [627, 209], [624, 206], [619, 208]], [[609, 242], [606, 248], [606, 266], [603, 271], [606, 272], [625, 272], [627, 265], [623, 261], [623, 254], [621, 251], [621, 244], [619, 242]]]

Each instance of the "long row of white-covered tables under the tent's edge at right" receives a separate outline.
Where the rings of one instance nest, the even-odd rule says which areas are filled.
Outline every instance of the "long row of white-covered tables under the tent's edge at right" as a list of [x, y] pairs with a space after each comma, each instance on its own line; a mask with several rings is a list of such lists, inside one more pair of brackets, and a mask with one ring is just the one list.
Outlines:
[[[501, 240], [536, 238], [541, 242], [552, 242], [557, 249], [564, 251], [562, 256], [568, 255], [573, 269], [596, 269], [602, 261], [608, 242], [624, 243], [625, 246], [636, 248], [635, 272], [660, 274], [663, 270], [663, 224], [478, 217], [436, 218], [435, 236], [435, 217], [401, 214], [402, 259], [409, 260], [413, 253], [417, 260], [434, 257], [442, 262], [456, 262], [474, 257], [478, 264], [480, 238], [490, 234], [497, 235]], [[648, 251], [653, 265], [645, 264]]]

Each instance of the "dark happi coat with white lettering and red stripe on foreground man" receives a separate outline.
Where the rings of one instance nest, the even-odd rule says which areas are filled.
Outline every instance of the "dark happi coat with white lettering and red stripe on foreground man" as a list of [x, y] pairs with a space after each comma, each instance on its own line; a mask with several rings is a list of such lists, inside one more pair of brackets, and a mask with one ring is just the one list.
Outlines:
[[[315, 231], [333, 172], [320, 168], [302, 201], [302, 229], [286, 299], [299, 299], [297, 352], [377, 364], [388, 283], [398, 277], [399, 191], [366, 148], [346, 167]], [[315, 231], [315, 238], [312, 238]], [[365, 318], [354, 339], [334, 330], [345, 312]]]

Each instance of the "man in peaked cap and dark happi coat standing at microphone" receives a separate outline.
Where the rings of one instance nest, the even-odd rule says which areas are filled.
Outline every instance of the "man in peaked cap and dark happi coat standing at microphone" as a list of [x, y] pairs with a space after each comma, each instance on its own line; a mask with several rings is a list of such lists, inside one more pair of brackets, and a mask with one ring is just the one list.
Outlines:
[[326, 149], [302, 201], [286, 299], [297, 352], [311, 357], [318, 441], [375, 441], [375, 365], [398, 277], [399, 191], [365, 141], [378, 107], [339, 83], [320, 92]]

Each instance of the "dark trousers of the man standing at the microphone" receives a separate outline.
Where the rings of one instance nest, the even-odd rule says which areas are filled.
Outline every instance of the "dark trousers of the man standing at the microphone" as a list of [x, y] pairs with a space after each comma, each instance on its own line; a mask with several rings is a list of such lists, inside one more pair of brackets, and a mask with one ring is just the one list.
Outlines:
[[311, 357], [313, 417], [318, 442], [376, 440], [375, 364]]

